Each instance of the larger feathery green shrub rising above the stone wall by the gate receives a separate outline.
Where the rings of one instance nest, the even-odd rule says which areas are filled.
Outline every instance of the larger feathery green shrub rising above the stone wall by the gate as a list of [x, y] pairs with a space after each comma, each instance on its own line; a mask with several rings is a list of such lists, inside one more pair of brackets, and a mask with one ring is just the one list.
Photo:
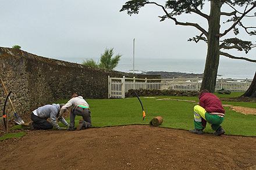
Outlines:
[[113, 70], [113, 68], [115, 68], [116, 66], [118, 66], [118, 62], [120, 60], [120, 57], [122, 55], [116, 55], [115, 57], [113, 57], [113, 48], [111, 49], [106, 49], [104, 54], [101, 55], [101, 60], [99, 63], [99, 67], [100, 68], [105, 68], [108, 70]]

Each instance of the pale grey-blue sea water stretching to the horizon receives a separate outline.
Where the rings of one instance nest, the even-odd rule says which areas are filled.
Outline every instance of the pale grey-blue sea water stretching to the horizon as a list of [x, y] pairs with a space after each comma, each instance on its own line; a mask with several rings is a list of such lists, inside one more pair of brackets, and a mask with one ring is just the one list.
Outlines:
[[[81, 57], [66, 57], [61, 60], [73, 63], [82, 63]], [[97, 60], [96, 60], [97, 61]], [[169, 71], [180, 73], [204, 73], [204, 59], [172, 59], [172, 58], [135, 58], [134, 72], [143, 73], [146, 71]], [[126, 73], [133, 73], [133, 57], [121, 57], [118, 66], [114, 69]], [[218, 77], [233, 79], [253, 79], [256, 71], [256, 63], [245, 60], [227, 59], [220, 57]]]

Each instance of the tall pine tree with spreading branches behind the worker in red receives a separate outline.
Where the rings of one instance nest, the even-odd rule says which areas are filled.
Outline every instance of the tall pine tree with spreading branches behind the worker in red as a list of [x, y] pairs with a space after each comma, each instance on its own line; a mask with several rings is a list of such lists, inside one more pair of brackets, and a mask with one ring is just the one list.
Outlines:
[[[210, 3], [211, 9], [209, 14], [202, 12], [205, 2]], [[195, 37], [189, 39], [189, 41], [198, 42], [202, 40], [205, 41], [208, 45], [201, 89], [208, 89], [209, 92], [215, 91], [220, 55], [232, 59], [242, 59], [249, 62], [256, 62], [256, 60], [249, 59], [247, 57], [234, 56], [230, 55], [229, 53], [223, 52], [224, 49], [237, 49], [239, 51], [244, 51], [248, 53], [251, 48], [255, 47], [255, 45], [253, 45], [251, 41], [243, 41], [239, 38], [236, 38], [236, 35], [239, 34], [240, 31], [239, 28], [244, 30], [249, 35], [256, 35], [256, 31], [254, 30], [254, 28], [256, 28], [255, 0], [168, 0], [165, 2], [165, 5], [160, 5], [157, 2], [148, 0], [133, 0], [127, 1], [125, 5], [123, 5], [120, 12], [126, 10], [128, 15], [138, 14], [140, 8], [148, 4], [158, 6], [163, 10], [165, 15], [159, 16], [161, 17], [161, 21], [165, 19], [170, 19], [175, 21], [176, 25], [195, 27], [197, 28], [197, 30], [200, 31], [200, 35], [196, 35]], [[223, 5], [229, 7], [232, 12], [222, 11], [221, 9]], [[207, 20], [208, 30], [201, 27], [199, 23], [184, 23], [178, 21], [176, 17], [184, 13], [194, 13]], [[221, 23], [221, 17], [223, 16], [229, 17], [229, 19], [225, 23], [230, 24], [229, 28], [221, 32], [221, 26], [225, 24]], [[245, 26], [242, 23], [242, 20], [245, 18], [250, 19], [250, 23], [254, 26]], [[234, 37], [223, 39], [223, 37], [225, 37], [228, 32], [232, 32], [232, 30]]]

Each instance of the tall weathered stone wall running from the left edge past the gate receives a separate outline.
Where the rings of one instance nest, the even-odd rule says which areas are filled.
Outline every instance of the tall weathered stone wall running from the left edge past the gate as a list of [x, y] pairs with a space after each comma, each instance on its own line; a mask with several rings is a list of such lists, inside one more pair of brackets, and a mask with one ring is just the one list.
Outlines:
[[[69, 99], [78, 93], [85, 99], [108, 98], [110, 77], [161, 78], [160, 75], [140, 75], [83, 66], [82, 64], [49, 59], [20, 49], [0, 47], [0, 77], [17, 114], [33, 111], [59, 99]], [[0, 113], [6, 93], [0, 85]], [[14, 117], [10, 103], [6, 111]], [[0, 120], [2, 122], [2, 120]], [[0, 122], [0, 124], [1, 124]]]

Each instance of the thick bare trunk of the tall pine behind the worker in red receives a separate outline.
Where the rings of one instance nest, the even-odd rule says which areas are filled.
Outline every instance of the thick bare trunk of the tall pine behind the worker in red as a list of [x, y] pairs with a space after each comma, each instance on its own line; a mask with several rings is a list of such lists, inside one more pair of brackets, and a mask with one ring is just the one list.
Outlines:
[[209, 92], [215, 91], [216, 77], [219, 67], [219, 29], [221, 19], [220, 1], [211, 1], [211, 12], [209, 16], [208, 49], [205, 62], [204, 75], [202, 77], [202, 89]]

